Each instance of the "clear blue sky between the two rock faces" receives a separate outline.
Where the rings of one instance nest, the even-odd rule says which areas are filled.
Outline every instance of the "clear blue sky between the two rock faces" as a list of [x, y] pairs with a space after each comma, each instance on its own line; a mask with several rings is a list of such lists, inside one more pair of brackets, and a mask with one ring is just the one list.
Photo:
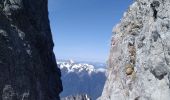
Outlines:
[[112, 28], [133, 0], [48, 0], [57, 59], [106, 62]]

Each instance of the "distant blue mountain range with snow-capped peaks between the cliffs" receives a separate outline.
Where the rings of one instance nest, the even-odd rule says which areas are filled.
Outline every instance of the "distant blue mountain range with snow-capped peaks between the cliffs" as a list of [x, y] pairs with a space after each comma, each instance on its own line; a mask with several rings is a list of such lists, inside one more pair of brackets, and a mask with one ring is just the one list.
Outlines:
[[78, 94], [87, 94], [92, 100], [99, 97], [106, 80], [106, 70], [105, 66], [97, 65], [74, 62], [73, 60], [58, 62], [64, 88], [61, 97]]

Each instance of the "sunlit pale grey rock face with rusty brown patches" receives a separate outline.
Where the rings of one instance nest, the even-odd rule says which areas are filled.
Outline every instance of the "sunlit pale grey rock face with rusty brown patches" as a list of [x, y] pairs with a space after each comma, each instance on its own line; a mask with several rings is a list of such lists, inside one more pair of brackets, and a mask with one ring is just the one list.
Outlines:
[[100, 100], [169, 100], [170, 1], [136, 0], [113, 30]]

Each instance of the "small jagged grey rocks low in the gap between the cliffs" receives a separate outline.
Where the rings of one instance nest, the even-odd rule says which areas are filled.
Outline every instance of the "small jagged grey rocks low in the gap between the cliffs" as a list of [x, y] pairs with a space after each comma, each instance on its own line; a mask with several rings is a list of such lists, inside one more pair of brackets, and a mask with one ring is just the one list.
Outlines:
[[87, 95], [76, 95], [62, 98], [61, 100], [91, 100]]

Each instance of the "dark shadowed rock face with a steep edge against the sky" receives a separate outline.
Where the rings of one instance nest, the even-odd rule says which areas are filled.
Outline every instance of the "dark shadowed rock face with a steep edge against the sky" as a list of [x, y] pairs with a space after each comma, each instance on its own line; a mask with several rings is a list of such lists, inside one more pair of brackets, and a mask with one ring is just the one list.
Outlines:
[[0, 0], [0, 100], [59, 100], [47, 0]]

